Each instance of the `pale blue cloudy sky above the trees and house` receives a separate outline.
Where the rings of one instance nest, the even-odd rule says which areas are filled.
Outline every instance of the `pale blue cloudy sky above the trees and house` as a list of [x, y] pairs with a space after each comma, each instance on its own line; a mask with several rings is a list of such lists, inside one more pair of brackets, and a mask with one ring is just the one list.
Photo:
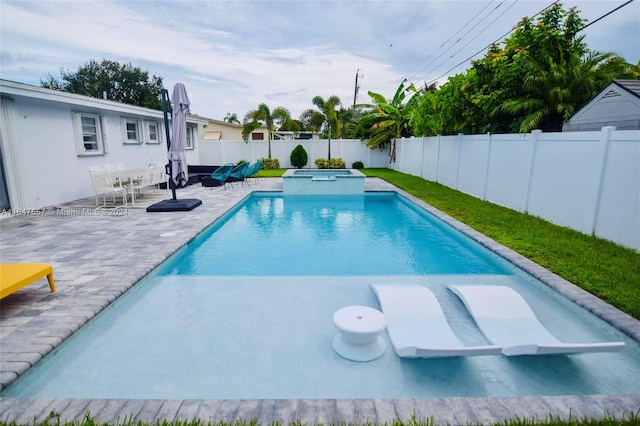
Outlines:
[[[627, 0], [563, 1], [593, 22]], [[391, 97], [402, 79], [446, 82], [551, 0], [5, 1], [0, 77], [39, 85], [90, 59], [131, 63], [182, 82], [191, 111], [240, 119], [260, 103], [297, 118], [311, 99]], [[640, 60], [640, 1], [586, 28], [592, 50]]]

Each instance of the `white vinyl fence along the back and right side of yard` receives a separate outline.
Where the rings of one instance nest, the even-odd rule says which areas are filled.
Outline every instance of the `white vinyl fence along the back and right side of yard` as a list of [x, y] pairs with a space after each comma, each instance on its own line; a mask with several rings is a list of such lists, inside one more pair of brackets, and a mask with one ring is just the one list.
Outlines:
[[[271, 142], [271, 157], [290, 168], [301, 144], [327, 158], [327, 140]], [[267, 157], [265, 141], [201, 142], [201, 164]], [[389, 167], [483, 200], [640, 251], [640, 131], [457, 135], [401, 139], [396, 162], [360, 140], [332, 140], [331, 157], [351, 167]]]

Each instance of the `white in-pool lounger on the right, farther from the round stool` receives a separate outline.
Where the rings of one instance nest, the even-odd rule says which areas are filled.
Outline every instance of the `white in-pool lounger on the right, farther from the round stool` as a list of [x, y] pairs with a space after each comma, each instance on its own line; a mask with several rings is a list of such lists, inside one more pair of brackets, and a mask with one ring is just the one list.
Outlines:
[[462, 300], [487, 340], [503, 347], [503, 355], [619, 352], [624, 348], [624, 342], [559, 341], [538, 321], [527, 301], [510, 287], [452, 285], [448, 288]]

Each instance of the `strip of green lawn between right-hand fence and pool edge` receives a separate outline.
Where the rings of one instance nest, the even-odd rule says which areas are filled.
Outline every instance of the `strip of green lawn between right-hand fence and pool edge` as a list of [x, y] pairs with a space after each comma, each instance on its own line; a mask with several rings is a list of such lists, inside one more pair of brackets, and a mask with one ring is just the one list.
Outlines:
[[640, 253], [439, 183], [391, 169], [362, 169], [464, 222], [640, 319]]

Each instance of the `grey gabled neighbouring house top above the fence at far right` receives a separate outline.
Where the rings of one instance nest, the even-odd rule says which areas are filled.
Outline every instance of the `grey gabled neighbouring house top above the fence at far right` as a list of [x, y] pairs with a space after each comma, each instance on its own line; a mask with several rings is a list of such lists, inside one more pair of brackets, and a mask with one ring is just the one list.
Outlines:
[[615, 80], [576, 112], [563, 132], [600, 130], [640, 130], [640, 80]]

